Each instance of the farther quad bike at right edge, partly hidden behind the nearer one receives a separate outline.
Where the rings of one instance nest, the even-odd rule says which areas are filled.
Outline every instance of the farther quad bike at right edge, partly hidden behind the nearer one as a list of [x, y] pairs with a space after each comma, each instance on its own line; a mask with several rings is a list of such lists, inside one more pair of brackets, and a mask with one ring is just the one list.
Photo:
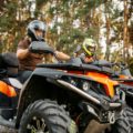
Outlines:
[[115, 72], [111, 79], [121, 83], [120, 95], [123, 93], [123, 100], [126, 102], [126, 106], [120, 113], [119, 119], [112, 126], [112, 133], [132, 133], [133, 132], [133, 76], [124, 63], [111, 63], [108, 61], [98, 61], [94, 63], [99, 66], [112, 68], [117, 65], [119, 72]]

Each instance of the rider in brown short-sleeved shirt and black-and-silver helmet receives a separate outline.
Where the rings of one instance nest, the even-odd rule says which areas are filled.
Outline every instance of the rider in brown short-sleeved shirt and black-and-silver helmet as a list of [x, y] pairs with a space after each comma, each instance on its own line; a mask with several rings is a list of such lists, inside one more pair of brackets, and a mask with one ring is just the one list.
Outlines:
[[[19, 70], [21, 82], [24, 82], [31, 72], [35, 69], [38, 63], [42, 63], [43, 54], [32, 53], [29, 51], [29, 45], [32, 41], [44, 41], [47, 25], [40, 20], [33, 20], [28, 24], [27, 34], [23, 38], [17, 49], [17, 58], [19, 60]], [[70, 57], [63, 52], [54, 51], [55, 55], [60, 60], [69, 60]]]

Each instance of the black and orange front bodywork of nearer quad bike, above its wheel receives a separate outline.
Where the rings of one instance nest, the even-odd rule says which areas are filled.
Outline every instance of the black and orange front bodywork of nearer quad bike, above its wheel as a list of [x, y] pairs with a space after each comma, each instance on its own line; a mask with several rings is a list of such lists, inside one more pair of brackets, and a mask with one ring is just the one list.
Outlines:
[[[60, 104], [71, 103], [73, 106], [80, 104], [82, 106], [81, 110], [92, 113], [99, 121], [103, 123], [114, 122], [113, 119], [109, 120], [109, 115], [114, 115], [114, 110], [120, 110], [122, 103], [113, 99], [115, 98], [114, 92], [108, 92], [108, 88], [117, 86], [117, 82], [111, 82], [108, 78], [105, 82], [103, 80], [101, 82], [101, 79], [91, 76], [89, 71], [101, 73], [101, 79], [103, 79], [105, 73], [109, 73], [98, 66], [88, 64], [60, 63], [38, 65], [20, 93], [17, 126], [19, 126], [22, 113], [27, 106], [39, 99], [55, 100]], [[83, 89], [83, 83], [85, 82], [91, 83], [90, 89]], [[109, 85], [105, 88], [105, 84]], [[93, 111], [90, 110], [93, 106], [95, 109]], [[108, 117], [106, 120], [100, 114], [102, 111], [102, 114]]]

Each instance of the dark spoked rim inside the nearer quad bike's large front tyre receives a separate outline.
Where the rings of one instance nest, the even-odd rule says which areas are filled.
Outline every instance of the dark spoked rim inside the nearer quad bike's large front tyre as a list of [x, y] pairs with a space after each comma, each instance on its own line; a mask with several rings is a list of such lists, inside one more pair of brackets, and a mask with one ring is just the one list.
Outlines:
[[28, 133], [49, 133], [44, 119], [33, 116], [27, 125]]

